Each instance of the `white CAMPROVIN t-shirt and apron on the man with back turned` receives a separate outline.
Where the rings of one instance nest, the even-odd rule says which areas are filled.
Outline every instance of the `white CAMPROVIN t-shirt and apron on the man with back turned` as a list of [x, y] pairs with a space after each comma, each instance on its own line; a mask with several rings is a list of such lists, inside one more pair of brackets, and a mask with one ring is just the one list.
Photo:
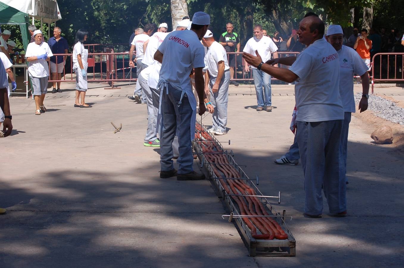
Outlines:
[[[160, 70], [159, 86], [165, 87], [170, 83], [175, 89], [185, 91], [189, 104], [193, 110], [191, 116], [190, 139], [195, 137], [196, 99], [192, 92], [191, 74], [192, 68], [204, 68], [205, 50], [198, 36], [192, 30], [174, 31], [168, 34], [158, 50], [163, 53], [163, 61]], [[162, 89], [164, 90], [164, 88]], [[160, 104], [162, 102], [160, 94]], [[159, 109], [159, 117], [161, 109]], [[158, 119], [159, 122], [159, 119]], [[159, 126], [159, 124], [157, 124]]]

